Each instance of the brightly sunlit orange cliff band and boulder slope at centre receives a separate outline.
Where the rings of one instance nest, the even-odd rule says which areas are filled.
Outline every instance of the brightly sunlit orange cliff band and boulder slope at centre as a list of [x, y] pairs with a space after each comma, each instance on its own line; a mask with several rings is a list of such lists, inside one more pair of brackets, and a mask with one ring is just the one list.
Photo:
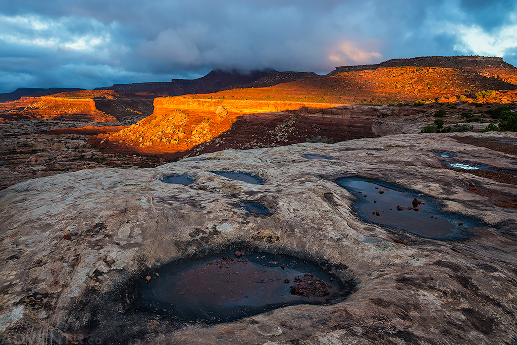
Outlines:
[[99, 134], [93, 142], [113, 148], [131, 148], [135, 152], [171, 154], [187, 151], [220, 136], [245, 114], [296, 111], [324, 115], [330, 108], [329, 116], [352, 114], [350, 109], [339, 109], [339, 106], [342, 104], [161, 97], [154, 101], [153, 115], [117, 133]]

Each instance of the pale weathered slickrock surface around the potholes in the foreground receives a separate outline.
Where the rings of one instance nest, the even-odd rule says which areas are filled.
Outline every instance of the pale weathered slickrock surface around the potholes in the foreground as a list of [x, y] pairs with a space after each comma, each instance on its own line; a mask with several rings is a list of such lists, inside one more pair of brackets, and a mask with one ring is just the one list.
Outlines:
[[[515, 142], [515, 133], [453, 133]], [[227, 150], [154, 169], [93, 169], [0, 191], [0, 333], [6, 343], [510, 344], [517, 341], [514, 186], [444, 169], [436, 152], [515, 171], [517, 156], [451, 134]], [[308, 159], [305, 155], [334, 159]], [[211, 173], [256, 174], [263, 185]], [[189, 174], [189, 185], [163, 176]], [[463, 241], [368, 223], [334, 182], [380, 179], [481, 221]], [[474, 188], [474, 189], [472, 189]], [[477, 188], [477, 189], [476, 189]], [[244, 202], [273, 211], [260, 216]], [[404, 211], [406, 212], [406, 211]], [[407, 211], [410, 212], [410, 211]], [[412, 212], [412, 211], [411, 211]], [[355, 291], [216, 325], [133, 312], [131, 279], [237, 244], [332, 265]], [[152, 279], [152, 277], [151, 277]], [[23, 342], [24, 341], [24, 342]]]

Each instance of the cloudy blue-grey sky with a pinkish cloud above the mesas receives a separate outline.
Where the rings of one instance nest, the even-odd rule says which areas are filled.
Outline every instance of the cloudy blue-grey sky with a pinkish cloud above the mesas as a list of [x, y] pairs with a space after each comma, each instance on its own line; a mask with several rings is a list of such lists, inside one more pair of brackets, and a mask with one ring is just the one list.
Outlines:
[[0, 0], [0, 93], [431, 55], [517, 66], [517, 1]]

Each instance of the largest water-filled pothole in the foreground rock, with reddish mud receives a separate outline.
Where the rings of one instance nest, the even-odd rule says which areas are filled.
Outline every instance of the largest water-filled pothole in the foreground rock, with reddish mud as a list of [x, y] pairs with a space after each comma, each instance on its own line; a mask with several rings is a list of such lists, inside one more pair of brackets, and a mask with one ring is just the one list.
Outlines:
[[136, 289], [136, 310], [206, 323], [287, 305], [328, 304], [351, 291], [313, 263], [265, 252], [172, 262], [149, 273]]

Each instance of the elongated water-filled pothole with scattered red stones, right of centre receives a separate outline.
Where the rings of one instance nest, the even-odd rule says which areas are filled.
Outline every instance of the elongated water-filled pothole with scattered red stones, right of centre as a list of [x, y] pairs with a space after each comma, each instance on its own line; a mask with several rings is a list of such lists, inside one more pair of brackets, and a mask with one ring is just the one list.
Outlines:
[[433, 199], [381, 181], [340, 178], [337, 183], [354, 193], [359, 215], [371, 222], [424, 237], [465, 238], [476, 221], [442, 211]]

